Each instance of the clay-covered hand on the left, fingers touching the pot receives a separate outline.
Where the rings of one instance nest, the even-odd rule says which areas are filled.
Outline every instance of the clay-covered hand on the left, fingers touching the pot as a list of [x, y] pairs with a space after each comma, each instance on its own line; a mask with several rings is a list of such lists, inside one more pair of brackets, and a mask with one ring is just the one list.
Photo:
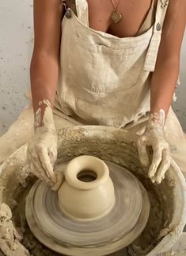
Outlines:
[[34, 175], [53, 186], [57, 181], [53, 171], [57, 158], [57, 135], [51, 107], [45, 107], [42, 125], [40, 113], [39, 108], [35, 115], [35, 134], [28, 143], [28, 162]]

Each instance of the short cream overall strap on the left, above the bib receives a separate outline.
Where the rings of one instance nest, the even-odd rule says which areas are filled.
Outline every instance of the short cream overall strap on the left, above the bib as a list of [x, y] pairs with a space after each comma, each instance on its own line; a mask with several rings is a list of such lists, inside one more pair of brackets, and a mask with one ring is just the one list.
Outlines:
[[78, 19], [89, 27], [89, 10], [86, 0], [75, 0]]

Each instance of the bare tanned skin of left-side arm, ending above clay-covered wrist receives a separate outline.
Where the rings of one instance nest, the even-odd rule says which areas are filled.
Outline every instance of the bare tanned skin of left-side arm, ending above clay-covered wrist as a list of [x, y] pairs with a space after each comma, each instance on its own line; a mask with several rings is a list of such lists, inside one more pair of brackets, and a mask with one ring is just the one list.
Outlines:
[[[60, 0], [34, 0], [34, 48], [30, 65], [34, 113], [39, 102], [54, 104], [59, 76], [59, 48], [63, 4]], [[44, 104], [41, 106], [42, 111]]]

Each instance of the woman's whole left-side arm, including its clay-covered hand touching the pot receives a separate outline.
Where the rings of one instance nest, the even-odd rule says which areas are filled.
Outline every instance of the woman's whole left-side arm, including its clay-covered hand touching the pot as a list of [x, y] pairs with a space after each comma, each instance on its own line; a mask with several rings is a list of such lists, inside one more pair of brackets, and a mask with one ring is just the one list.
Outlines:
[[35, 134], [28, 143], [32, 173], [53, 186], [57, 135], [52, 107], [59, 76], [63, 6], [60, 0], [34, 0], [34, 49], [30, 67]]

